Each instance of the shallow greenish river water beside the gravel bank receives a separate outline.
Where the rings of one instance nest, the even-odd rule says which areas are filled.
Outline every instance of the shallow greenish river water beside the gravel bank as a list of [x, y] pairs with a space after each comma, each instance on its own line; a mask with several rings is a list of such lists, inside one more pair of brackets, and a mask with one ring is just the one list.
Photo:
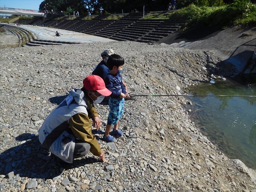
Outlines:
[[[256, 86], [241, 86], [230, 80], [190, 87], [190, 94], [252, 95]], [[256, 98], [188, 97], [192, 120], [219, 150], [256, 169]]]

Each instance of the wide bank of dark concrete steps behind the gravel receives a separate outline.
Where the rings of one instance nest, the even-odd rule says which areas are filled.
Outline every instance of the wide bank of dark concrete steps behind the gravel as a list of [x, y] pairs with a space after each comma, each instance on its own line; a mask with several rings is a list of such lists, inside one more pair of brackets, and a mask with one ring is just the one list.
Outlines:
[[[80, 20], [79, 18], [75, 20], [47, 20], [45, 25], [114, 40], [146, 43], [157, 42], [185, 25], [184, 22], [171, 22], [170, 20], [142, 20], [142, 16], [142, 12], [129, 13], [124, 14], [124, 17], [119, 20], [103, 20], [108, 15], [98, 15], [93, 20]], [[41, 25], [40, 21], [36, 22]]]

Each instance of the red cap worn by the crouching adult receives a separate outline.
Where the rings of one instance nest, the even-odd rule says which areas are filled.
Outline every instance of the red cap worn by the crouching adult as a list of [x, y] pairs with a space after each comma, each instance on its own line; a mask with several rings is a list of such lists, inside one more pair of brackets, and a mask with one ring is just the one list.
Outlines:
[[105, 86], [103, 79], [97, 75], [89, 75], [83, 80], [84, 88], [90, 91], [97, 91], [103, 96], [110, 96], [111, 91]]

